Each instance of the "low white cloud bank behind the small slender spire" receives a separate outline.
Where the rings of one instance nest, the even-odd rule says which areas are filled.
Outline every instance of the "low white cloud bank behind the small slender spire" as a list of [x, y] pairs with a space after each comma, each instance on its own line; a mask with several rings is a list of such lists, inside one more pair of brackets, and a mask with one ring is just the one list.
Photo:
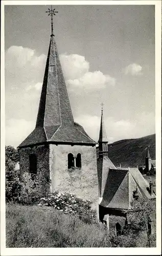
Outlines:
[[[87, 134], [98, 141], [100, 130], [100, 118], [98, 116], [79, 115], [75, 121], [81, 124]], [[151, 113], [141, 113], [131, 120], [115, 119], [105, 117], [104, 123], [106, 128], [107, 139], [109, 143], [122, 139], [140, 138], [155, 133], [155, 116]], [[151, 125], [150, 125], [151, 123]]]

